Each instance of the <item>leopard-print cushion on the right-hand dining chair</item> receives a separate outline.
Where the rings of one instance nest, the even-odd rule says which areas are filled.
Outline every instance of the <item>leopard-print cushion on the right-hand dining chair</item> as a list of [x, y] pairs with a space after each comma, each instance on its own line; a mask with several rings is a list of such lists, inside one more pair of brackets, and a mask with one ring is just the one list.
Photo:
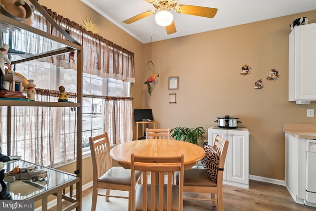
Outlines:
[[209, 178], [216, 183], [219, 163], [218, 154], [211, 145], [205, 144], [203, 149], [205, 151], [205, 157], [201, 160], [202, 166], [207, 171]]

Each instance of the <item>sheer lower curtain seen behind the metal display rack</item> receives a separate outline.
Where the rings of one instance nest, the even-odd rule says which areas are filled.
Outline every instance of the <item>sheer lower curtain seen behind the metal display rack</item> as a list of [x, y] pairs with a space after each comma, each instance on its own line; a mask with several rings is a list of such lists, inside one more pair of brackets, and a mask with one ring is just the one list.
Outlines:
[[[38, 94], [36, 100], [40, 99], [57, 101]], [[75, 160], [76, 115], [69, 107], [11, 107], [11, 155], [48, 167]], [[1, 122], [2, 118], [3, 112]]]

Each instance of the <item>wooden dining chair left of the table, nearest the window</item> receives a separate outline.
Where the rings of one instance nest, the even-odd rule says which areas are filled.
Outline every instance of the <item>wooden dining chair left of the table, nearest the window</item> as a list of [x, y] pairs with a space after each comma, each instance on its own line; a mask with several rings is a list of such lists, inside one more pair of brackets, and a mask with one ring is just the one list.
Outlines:
[[[108, 133], [89, 137], [91, 149], [92, 167], [93, 167], [93, 191], [91, 211], [95, 211], [97, 196], [128, 199], [128, 210], [131, 209], [131, 172], [130, 169], [122, 167], [113, 167], [110, 157], [110, 141]], [[141, 178], [141, 171], [135, 171], [134, 178], [138, 181]], [[101, 194], [98, 189], [106, 189], [106, 194]], [[128, 197], [110, 195], [110, 190], [128, 191]]]

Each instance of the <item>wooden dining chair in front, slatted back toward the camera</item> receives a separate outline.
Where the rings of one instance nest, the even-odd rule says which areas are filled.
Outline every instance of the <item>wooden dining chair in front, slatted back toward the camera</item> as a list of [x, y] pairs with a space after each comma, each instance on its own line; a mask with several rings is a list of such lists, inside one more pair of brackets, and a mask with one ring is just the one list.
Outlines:
[[[135, 188], [136, 170], [143, 171], [143, 183]], [[179, 171], [178, 185], [172, 184], [172, 172], [175, 171]], [[182, 211], [183, 172], [183, 155], [159, 158], [131, 154], [132, 211]]]

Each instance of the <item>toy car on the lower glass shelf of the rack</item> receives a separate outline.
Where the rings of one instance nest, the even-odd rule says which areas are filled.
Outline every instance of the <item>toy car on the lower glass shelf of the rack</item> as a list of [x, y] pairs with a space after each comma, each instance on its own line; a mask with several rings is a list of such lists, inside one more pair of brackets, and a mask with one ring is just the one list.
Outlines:
[[4, 174], [4, 181], [14, 182], [15, 180], [32, 180], [32, 182], [42, 181], [47, 176], [47, 171], [37, 169], [36, 166], [26, 168], [15, 167]]

